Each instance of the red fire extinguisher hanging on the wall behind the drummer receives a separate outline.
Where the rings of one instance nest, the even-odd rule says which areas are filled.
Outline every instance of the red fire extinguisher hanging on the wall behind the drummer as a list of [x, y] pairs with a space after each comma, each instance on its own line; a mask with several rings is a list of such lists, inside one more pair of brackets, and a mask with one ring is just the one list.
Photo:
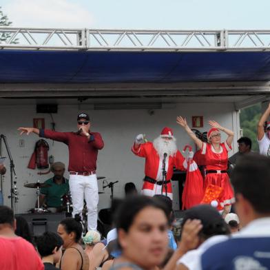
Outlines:
[[48, 151], [50, 147], [48, 143], [41, 139], [37, 141], [34, 147], [34, 153], [30, 158], [30, 162], [28, 164], [29, 169], [35, 169], [36, 165], [38, 169], [47, 169], [49, 167], [48, 163]]

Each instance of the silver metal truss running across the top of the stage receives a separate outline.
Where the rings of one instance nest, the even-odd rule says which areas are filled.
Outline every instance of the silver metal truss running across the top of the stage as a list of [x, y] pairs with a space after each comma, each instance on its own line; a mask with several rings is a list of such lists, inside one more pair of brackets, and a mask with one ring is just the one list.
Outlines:
[[0, 27], [1, 49], [270, 50], [270, 30], [93, 30]]

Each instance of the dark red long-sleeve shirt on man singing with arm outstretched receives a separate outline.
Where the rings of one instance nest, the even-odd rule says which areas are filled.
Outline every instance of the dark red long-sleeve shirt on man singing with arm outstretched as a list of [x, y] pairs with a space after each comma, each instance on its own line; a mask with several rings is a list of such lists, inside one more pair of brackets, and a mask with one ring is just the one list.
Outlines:
[[101, 134], [91, 132], [90, 139], [75, 132], [54, 132], [40, 129], [39, 136], [65, 143], [69, 150], [69, 172], [92, 172], [96, 170], [98, 150], [104, 146]]

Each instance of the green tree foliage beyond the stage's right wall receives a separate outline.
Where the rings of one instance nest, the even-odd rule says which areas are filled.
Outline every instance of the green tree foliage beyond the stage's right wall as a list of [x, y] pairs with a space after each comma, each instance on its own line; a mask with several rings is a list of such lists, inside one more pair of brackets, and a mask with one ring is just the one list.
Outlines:
[[243, 136], [251, 138], [253, 151], [258, 152], [257, 142], [257, 124], [262, 115], [262, 106], [260, 103], [247, 107], [240, 112], [240, 127], [243, 130]]

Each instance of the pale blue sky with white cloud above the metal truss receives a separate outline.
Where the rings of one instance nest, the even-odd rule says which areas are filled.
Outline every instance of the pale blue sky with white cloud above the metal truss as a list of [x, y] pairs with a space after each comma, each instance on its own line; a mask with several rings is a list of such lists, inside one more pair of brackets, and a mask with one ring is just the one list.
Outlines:
[[0, 0], [14, 27], [270, 29], [269, 0]]

